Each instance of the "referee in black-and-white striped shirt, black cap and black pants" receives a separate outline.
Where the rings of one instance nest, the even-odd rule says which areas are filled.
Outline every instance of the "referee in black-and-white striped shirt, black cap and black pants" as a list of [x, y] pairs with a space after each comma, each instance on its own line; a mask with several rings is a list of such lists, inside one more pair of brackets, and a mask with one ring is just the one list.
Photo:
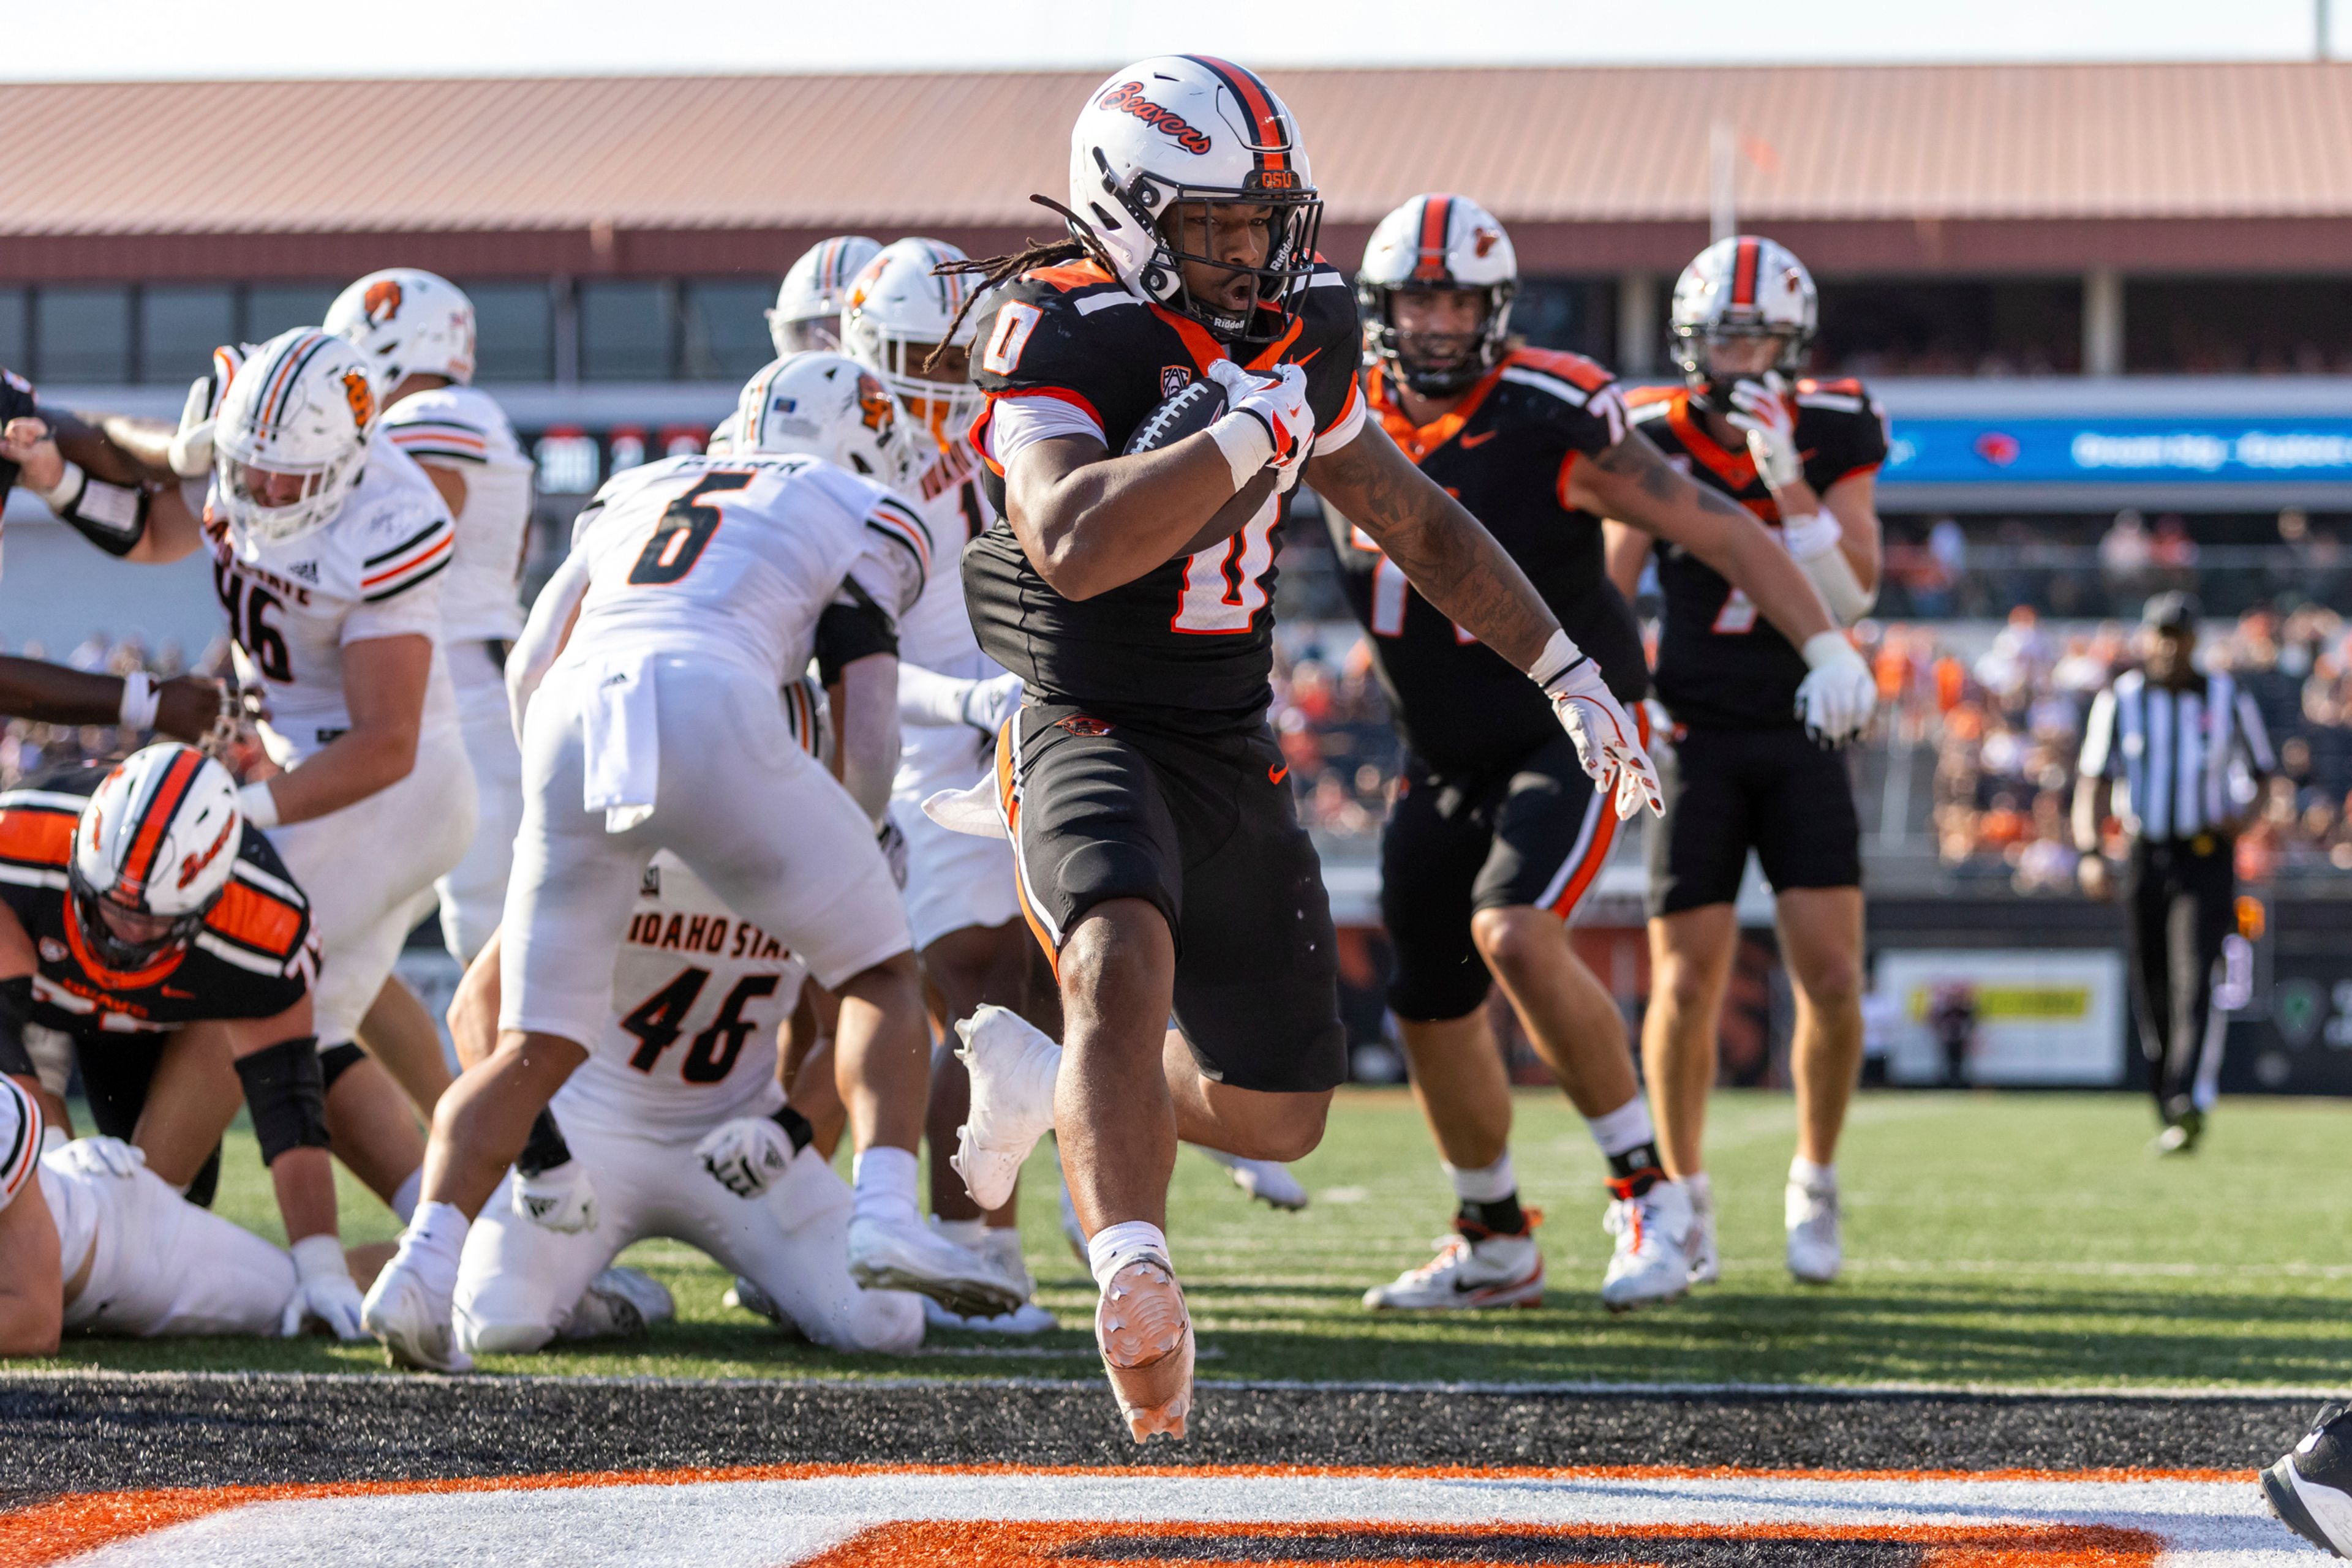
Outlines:
[[2074, 780], [2082, 889], [2110, 898], [2098, 827], [2110, 797], [2131, 839], [2131, 1009], [2154, 1067], [2161, 1154], [2197, 1147], [2220, 1079], [2213, 1009], [2223, 938], [2237, 919], [2234, 839], [2277, 766], [2263, 715], [2227, 675], [2201, 675], [2197, 599], [2161, 592], [2140, 625], [2152, 646], [2091, 703]]

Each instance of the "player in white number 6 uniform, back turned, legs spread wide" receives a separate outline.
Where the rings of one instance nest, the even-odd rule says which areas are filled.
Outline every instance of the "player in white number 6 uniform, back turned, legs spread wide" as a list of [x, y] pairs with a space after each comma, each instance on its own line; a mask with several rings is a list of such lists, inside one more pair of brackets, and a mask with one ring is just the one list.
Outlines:
[[[367, 1298], [367, 1326], [395, 1361], [468, 1363], [452, 1328], [466, 1229], [607, 1032], [614, 961], [663, 849], [842, 999], [858, 1281], [924, 1288], [967, 1312], [1021, 1300], [995, 1265], [915, 1215], [922, 1077], [913, 1095], [887, 1088], [924, 1065], [915, 954], [877, 830], [898, 764], [894, 625], [922, 592], [931, 541], [858, 470], [898, 477], [906, 440], [882, 383], [840, 355], [764, 367], [739, 418], [729, 456], [649, 463], [588, 503], [515, 651], [527, 799], [501, 926], [499, 1046], [442, 1098], [426, 1201]], [[543, 649], [560, 654], [541, 663]], [[847, 790], [793, 738], [779, 696], [811, 654], [828, 684], [844, 672]], [[522, 672], [536, 668], [534, 693]], [[776, 1143], [746, 1161], [753, 1185], [793, 1164], [783, 1128]]]

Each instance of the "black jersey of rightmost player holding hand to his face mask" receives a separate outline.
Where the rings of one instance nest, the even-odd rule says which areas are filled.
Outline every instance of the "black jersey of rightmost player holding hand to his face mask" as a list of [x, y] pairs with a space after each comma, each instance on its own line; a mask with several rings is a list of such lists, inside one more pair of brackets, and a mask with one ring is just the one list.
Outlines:
[[[1804, 482], [1825, 496], [1839, 480], [1872, 473], [1886, 461], [1886, 414], [1860, 381], [1799, 381], [1797, 456]], [[1644, 388], [1625, 400], [1635, 425], [1661, 451], [1762, 522], [1778, 529], [1780, 508], [1757, 475], [1745, 447], [1726, 449], [1708, 435], [1689, 388]], [[1658, 545], [1658, 592], [1665, 625], [1658, 632], [1658, 701], [1677, 724], [1729, 729], [1795, 729], [1804, 656], [1696, 555]]]

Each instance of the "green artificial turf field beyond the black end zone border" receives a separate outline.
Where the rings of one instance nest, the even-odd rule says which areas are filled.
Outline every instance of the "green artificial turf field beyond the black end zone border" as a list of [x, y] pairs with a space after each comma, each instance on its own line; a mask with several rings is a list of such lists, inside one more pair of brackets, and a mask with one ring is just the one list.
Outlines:
[[[1367, 1314], [1364, 1286], [1428, 1258], [1451, 1213], [1402, 1091], [1343, 1091], [1298, 1164], [1305, 1213], [1249, 1204], [1185, 1152], [1171, 1241], [1202, 1378], [1477, 1382], [1971, 1382], [2039, 1387], [2336, 1385], [2352, 1368], [2352, 1107], [2230, 1100], [2204, 1147], [2159, 1161], [2131, 1095], [1872, 1093], [1839, 1157], [1846, 1276], [1806, 1288], [1780, 1265], [1785, 1095], [1724, 1093], [1710, 1126], [1724, 1279], [1609, 1316], [1602, 1161], [1576, 1114], [1522, 1093], [1524, 1201], [1545, 1211], [1550, 1295], [1498, 1314]], [[242, 1133], [221, 1213], [278, 1232]], [[346, 1239], [390, 1215], [346, 1182]], [[720, 1305], [691, 1248], [628, 1253], [677, 1295], [649, 1342], [492, 1356], [485, 1371], [600, 1375], [1096, 1378], [1094, 1286], [1063, 1244], [1051, 1147], [1030, 1164], [1023, 1229], [1040, 1300], [1068, 1328], [1028, 1342], [934, 1335], [915, 1359], [835, 1356]], [[71, 1340], [47, 1366], [367, 1371], [325, 1340]]]

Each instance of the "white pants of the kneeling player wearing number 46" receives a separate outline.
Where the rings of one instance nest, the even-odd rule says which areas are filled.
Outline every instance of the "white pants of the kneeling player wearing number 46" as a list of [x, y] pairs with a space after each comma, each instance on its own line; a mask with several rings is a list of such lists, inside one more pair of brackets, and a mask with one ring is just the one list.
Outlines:
[[553, 1232], [513, 1211], [513, 1173], [466, 1234], [456, 1340], [466, 1354], [539, 1349], [588, 1281], [647, 1237], [684, 1241], [750, 1279], [818, 1345], [906, 1354], [922, 1345], [922, 1298], [861, 1291], [849, 1276], [849, 1185], [816, 1154], [757, 1199], [739, 1199], [694, 1157], [696, 1135], [647, 1138], [564, 1124], [595, 1187], [595, 1229]]

